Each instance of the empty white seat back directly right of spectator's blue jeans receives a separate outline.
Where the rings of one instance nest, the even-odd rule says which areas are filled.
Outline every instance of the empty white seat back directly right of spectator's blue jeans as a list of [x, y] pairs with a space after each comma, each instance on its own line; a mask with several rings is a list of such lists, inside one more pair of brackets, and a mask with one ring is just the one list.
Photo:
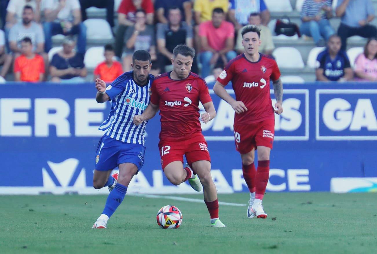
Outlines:
[[84, 24], [87, 39], [109, 40], [113, 38], [110, 25], [106, 20], [89, 18], [84, 21]]

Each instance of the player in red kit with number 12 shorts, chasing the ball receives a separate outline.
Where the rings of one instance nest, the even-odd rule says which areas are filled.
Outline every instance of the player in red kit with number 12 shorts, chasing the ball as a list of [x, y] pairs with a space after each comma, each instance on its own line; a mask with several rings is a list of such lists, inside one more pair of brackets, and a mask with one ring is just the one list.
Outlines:
[[[199, 122], [199, 101], [205, 109], [205, 113], [200, 116], [204, 123], [215, 118], [216, 111], [207, 84], [201, 77], [190, 72], [194, 56], [195, 50], [186, 45], [174, 48], [173, 70], [153, 81], [150, 103], [141, 115], [134, 116], [133, 122], [141, 124], [153, 118], [160, 110], [158, 148], [167, 179], [174, 185], [189, 180], [196, 191], [201, 191], [203, 185], [211, 225], [225, 227], [219, 220], [217, 190], [210, 173], [211, 159]], [[187, 159], [185, 167], [183, 155]]]

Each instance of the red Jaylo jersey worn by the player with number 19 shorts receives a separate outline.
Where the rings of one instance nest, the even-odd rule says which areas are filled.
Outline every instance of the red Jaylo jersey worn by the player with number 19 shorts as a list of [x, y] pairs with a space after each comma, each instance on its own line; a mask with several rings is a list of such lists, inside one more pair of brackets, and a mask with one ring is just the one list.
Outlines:
[[276, 61], [267, 55], [260, 54], [257, 62], [246, 59], [244, 54], [233, 58], [218, 77], [218, 81], [226, 86], [232, 81], [237, 101], [242, 101], [247, 111], [234, 115], [234, 124], [250, 124], [265, 119], [274, 119], [274, 108], [271, 104], [270, 78], [278, 80], [280, 70]]

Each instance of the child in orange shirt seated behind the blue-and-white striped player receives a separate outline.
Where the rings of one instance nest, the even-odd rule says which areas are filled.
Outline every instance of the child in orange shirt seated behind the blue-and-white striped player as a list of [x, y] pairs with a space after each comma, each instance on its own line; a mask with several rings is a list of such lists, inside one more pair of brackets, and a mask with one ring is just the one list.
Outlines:
[[113, 60], [115, 52], [111, 44], [105, 45], [104, 57], [105, 61], [94, 69], [94, 80], [100, 78], [106, 83], [111, 83], [123, 74], [122, 64]]

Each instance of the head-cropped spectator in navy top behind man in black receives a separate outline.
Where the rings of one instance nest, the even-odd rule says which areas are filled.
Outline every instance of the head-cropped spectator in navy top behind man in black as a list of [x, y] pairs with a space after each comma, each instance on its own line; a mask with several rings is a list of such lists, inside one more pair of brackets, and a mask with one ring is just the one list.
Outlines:
[[155, 0], [156, 18], [159, 23], [169, 23], [169, 10], [178, 8], [181, 11], [182, 20], [191, 26], [192, 24], [192, 3], [190, 0]]

